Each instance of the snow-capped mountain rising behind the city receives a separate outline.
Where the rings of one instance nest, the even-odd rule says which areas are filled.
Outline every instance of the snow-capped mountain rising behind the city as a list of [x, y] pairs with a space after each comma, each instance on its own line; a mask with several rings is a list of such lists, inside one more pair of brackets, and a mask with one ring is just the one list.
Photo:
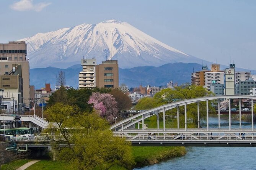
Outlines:
[[118, 60], [119, 67], [160, 66], [166, 63], [202, 63], [202, 59], [176, 50], [127, 22], [81, 24], [18, 41], [27, 43], [30, 67], [66, 68], [85, 58]]

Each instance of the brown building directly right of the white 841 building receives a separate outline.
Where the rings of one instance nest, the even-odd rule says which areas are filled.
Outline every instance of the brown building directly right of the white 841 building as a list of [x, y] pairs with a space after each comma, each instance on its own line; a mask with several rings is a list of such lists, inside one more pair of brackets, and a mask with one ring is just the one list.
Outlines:
[[118, 88], [119, 74], [117, 60], [103, 61], [96, 65], [96, 87]]

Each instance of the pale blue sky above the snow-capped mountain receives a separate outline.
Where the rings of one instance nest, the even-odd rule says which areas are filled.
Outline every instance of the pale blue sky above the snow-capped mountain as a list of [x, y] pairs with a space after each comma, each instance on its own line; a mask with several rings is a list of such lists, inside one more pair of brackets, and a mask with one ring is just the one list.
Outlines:
[[256, 70], [254, 0], [1, 0], [0, 17], [0, 43], [117, 19], [197, 58]]

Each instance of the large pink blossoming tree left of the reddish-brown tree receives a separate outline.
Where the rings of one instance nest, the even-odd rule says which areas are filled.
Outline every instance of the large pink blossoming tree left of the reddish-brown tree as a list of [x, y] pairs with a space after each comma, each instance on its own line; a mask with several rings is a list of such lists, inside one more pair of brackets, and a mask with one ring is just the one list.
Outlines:
[[93, 108], [98, 111], [98, 114], [110, 123], [114, 121], [113, 117], [117, 117], [117, 102], [115, 98], [108, 93], [93, 93], [88, 103], [94, 104]]

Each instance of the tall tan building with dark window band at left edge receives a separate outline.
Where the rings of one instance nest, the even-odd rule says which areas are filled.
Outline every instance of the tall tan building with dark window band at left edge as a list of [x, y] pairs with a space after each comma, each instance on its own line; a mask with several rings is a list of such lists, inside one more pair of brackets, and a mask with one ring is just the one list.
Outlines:
[[[18, 105], [26, 104], [28, 105], [30, 95], [29, 95], [29, 62], [26, 59], [27, 55], [27, 45], [25, 42], [9, 42], [8, 44], [0, 44], [0, 76], [3, 83], [1, 90], [11, 91], [8, 98], [15, 100]], [[9, 76], [9, 77], [5, 77]], [[15, 78], [13, 78], [15, 77]], [[11, 80], [18, 81], [11, 81]], [[5, 81], [7, 80], [7, 81]], [[15, 91], [11, 88], [18, 86], [18, 95], [15, 95]], [[13, 106], [19, 107], [19, 106]], [[13, 108], [13, 110], [15, 109]]]

